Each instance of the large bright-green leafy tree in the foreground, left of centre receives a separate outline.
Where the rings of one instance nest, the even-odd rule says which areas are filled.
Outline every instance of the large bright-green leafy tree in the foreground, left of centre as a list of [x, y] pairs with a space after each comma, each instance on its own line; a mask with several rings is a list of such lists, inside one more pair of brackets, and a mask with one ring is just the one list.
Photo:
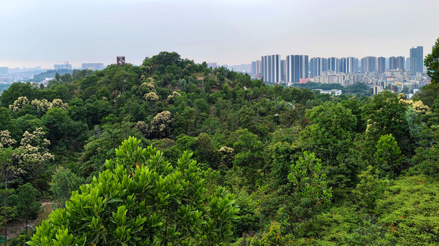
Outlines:
[[[175, 167], [162, 153], [129, 138], [106, 161], [108, 170], [74, 191], [31, 245], [217, 245], [238, 219], [234, 196], [205, 191], [202, 172], [184, 152]], [[68, 223], [67, 223], [68, 222]]]

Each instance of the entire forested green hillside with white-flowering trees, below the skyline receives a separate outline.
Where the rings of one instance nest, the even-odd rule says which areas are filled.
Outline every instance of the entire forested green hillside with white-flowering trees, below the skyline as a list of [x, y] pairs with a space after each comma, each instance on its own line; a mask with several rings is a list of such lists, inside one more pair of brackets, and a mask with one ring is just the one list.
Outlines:
[[14, 83], [2, 226], [24, 230], [49, 200], [30, 245], [438, 245], [431, 62], [412, 100], [265, 85], [168, 52]]

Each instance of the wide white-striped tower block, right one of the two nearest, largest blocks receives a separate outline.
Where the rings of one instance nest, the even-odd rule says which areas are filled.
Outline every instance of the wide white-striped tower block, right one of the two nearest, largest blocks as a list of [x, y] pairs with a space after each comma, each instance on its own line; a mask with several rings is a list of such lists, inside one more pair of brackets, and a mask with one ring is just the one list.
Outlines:
[[300, 79], [308, 78], [308, 55], [286, 56], [286, 81], [299, 83]]

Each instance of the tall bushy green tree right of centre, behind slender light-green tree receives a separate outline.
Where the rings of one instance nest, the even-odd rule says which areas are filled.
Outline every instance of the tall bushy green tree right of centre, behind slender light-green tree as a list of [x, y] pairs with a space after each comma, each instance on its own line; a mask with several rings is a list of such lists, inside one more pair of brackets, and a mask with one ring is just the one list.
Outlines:
[[355, 183], [360, 160], [353, 146], [352, 132], [357, 120], [340, 103], [325, 102], [307, 111], [311, 124], [300, 133], [303, 150], [314, 152], [325, 162], [331, 186]]

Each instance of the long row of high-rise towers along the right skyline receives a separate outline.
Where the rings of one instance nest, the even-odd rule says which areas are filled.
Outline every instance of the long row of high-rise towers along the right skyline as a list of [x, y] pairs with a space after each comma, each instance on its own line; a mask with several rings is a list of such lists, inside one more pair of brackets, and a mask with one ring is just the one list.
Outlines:
[[308, 59], [308, 55], [287, 55], [286, 59], [281, 59], [281, 55], [264, 55], [260, 60], [251, 62], [251, 73], [262, 76], [268, 83], [300, 83], [301, 79], [319, 77], [324, 72], [330, 72], [332, 76], [338, 73], [384, 74], [386, 71], [409, 70], [410, 75], [416, 75], [423, 73], [423, 59], [423, 46], [410, 49], [407, 61], [402, 56], [368, 56], [359, 60], [355, 57]]

